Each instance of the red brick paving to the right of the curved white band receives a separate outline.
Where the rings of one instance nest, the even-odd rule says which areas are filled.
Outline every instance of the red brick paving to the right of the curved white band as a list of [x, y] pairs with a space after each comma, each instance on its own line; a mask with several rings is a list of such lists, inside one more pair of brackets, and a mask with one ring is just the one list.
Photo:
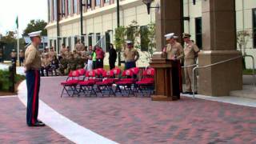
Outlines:
[[256, 143], [256, 109], [184, 98], [60, 98], [65, 78], [42, 78], [41, 99], [74, 122], [120, 143]]

